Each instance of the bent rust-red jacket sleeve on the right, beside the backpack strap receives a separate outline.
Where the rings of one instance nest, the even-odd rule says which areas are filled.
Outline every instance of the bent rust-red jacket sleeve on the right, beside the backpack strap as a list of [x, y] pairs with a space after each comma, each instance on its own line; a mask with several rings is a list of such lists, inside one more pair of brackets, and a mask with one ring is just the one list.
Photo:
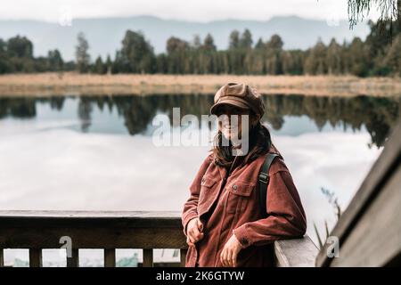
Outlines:
[[265, 245], [274, 240], [301, 237], [305, 234], [307, 218], [288, 170], [280, 170], [270, 175], [266, 208], [266, 218], [241, 224], [233, 230], [242, 248]]

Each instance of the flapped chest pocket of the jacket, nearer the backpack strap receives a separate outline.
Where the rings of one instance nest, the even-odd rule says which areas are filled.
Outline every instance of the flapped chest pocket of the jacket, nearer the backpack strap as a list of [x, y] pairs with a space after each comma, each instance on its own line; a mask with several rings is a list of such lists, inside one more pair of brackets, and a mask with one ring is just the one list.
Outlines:
[[249, 200], [252, 199], [251, 193], [255, 189], [255, 184], [234, 182], [227, 187], [226, 212], [230, 214], [242, 213]]

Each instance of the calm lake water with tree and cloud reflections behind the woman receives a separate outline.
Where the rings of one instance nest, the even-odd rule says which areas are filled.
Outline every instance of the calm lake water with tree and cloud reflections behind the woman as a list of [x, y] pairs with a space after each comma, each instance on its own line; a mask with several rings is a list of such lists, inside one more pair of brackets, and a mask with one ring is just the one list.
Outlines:
[[[401, 98], [270, 95], [266, 115], [307, 211], [308, 233], [335, 223], [401, 111]], [[158, 147], [155, 116], [209, 114], [213, 95], [0, 98], [0, 208], [177, 210], [208, 146]], [[173, 132], [198, 126], [173, 124]]]

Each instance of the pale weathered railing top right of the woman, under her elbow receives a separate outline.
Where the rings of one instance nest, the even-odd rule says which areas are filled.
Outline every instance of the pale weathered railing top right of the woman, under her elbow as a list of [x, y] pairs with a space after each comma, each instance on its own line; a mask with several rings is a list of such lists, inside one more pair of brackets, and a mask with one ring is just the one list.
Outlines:
[[318, 249], [306, 235], [303, 239], [274, 241], [277, 267], [314, 267]]

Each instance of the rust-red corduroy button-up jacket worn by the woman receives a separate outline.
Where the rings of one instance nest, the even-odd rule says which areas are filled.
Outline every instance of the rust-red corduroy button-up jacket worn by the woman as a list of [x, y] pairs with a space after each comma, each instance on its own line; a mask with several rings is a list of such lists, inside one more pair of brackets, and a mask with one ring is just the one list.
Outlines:
[[[279, 153], [274, 146], [270, 152]], [[182, 222], [186, 235], [188, 222], [199, 217], [204, 237], [188, 248], [185, 266], [223, 266], [220, 253], [232, 234], [243, 247], [237, 266], [272, 266], [274, 240], [305, 234], [306, 215], [282, 156], [274, 159], [269, 169], [267, 217], [260, 213], [258, 172], [265, 157], [243, 166], [242, 158], [237, 157], [230, 170], [213, 163], [211, 154], [203, 161], [184, 204]]]

